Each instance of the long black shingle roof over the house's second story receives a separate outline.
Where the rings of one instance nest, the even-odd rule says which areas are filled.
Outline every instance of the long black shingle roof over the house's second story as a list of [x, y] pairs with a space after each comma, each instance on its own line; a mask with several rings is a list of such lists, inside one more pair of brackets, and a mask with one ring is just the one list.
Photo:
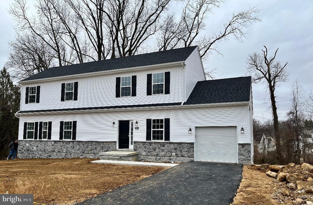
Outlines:
[[123, 68], [157, 65], [185, 61], [198, 46], [165, 50], [147, 54], [126, 56], [122, 58], [106, 59], [81, 64], [52, 67], [34, 74], [20, 82], [27, 80], [46, 79], [74, 74], [93, 73]]

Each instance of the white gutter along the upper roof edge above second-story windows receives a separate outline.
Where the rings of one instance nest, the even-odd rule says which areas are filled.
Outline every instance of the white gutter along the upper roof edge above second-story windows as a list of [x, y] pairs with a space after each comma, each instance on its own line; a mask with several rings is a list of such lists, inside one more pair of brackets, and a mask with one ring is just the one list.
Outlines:
[[94, 76], [94, 75], [101, 75], [101, 74], [113, 74], [113, 73], [119, 73], [119, 72], [124, 72], [124, 71], [131, 71], [131, 70], [145, 70], [145, 69], [151, 69], [151, 68], [162, 68], [162, 67], [179, 65], [179, 64], [182, 64], [184, 62], [185, 61], [178, 61], [178, 62], [172, 62], [172, 63], [163, 63], [163, 64], [156, 64], [156, 65], [145, 65], [145, 66], [132, 67], [132, 68], [104, 70], [104, 71], [98, 71], [98, 72], [65, 75], [65, 76], [58, 76], [58, 77], [52, 77], [52, 78], [25, 80], [25, 81], [19, 81], [18, 83], [19, 84], [26, 84], [26, 83], [36, 82], [36, 81], [46, 82], [46, 81], [53, 81], [53, 80], [56, 80], [56, 79], [68, 79], [68, 78], [77, 78], [77, 77], [80, 78], [80, 77], [85, 77], [85, 76]]

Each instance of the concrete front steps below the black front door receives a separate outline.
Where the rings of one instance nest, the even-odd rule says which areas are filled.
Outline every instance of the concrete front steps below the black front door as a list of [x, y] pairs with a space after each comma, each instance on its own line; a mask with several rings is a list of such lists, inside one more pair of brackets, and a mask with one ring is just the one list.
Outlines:
[[107, 151], [99, 153], [100, 160], [114, 161], [138, 161], [138, 152], [136, 151]]

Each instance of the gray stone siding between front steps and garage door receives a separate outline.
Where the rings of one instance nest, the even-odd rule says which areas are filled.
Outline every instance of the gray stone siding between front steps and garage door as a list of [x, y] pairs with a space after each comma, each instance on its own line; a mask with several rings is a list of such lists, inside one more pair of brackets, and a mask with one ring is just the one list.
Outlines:
[[[193, 142], [134, 142], [138, 161], [187, 162], [194, 161]], [[175, 153], [175, 156], [172, 155]]]

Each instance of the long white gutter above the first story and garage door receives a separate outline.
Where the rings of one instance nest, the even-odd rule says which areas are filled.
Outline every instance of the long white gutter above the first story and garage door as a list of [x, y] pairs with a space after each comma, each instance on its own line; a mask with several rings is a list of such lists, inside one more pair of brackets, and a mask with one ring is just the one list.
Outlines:
[[[38, 114], [56, 114], [56, 113], [78, 113], [78, 112], [112, 112], [115, 110], [144, 110], [144, 109], [164, 109], [164, 108], [197, 108], [197, 107], [217, 107], [217, 106], [231, 106], [231, 105], [249, 105], [248, 102], [230, 102], [230, 103], [211, 103], [198, 105], [165, 105], [165, 106], [150, 106], [150, 107], [128, 107], [128, 108], [108, 108], [108, 109], [90, 109], [90, 110], [66, 110], [66, 111], [43, 111], [43, 112], [29, 112], [16, 113], [18, 115], [38, 115]], [[27, 110], [25, 110], [27, 111]]]

